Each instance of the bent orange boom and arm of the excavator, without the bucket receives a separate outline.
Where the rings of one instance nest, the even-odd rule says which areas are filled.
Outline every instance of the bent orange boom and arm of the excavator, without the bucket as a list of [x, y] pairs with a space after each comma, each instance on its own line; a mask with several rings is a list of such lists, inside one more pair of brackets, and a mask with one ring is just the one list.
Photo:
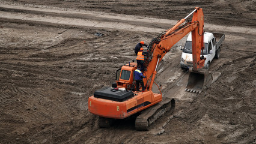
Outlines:
[[[191, 14], [191, 21], [186, 20]], [[183, 24], [184, 23], [184, 24]], [[183, 24], [183, 25], [181, 25]], [[159, 37], [154, 38], [148, 48], [148, 53], [145, 56], [144, 83], [148, 83], [148, 91], [151, 91], [153, 81], [156, 76], [156, 68], [163, 56], [177, 43], [181, 38], [192, 32], [192, 56], [193, 56], [193, 71], [198, 73], [204, 67], [205, 58], [201, 57], [201, 52], [204, 49], [204, 14], [202, 8], [196, 7], [192, 13], [184, 19], [178, 21], [171, 29], [166, 30]]]

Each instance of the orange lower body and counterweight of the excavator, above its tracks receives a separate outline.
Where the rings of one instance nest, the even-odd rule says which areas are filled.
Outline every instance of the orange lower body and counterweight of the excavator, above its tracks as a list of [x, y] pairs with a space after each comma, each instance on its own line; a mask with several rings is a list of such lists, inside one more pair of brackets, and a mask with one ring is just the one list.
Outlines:
[[124, 119], [162, 101], [162, 95], [154, 94], [152, 91], [133, 93], [134, 97], [122, 102], [91, 96], [88, 100], [88, 109], [94, 115]]

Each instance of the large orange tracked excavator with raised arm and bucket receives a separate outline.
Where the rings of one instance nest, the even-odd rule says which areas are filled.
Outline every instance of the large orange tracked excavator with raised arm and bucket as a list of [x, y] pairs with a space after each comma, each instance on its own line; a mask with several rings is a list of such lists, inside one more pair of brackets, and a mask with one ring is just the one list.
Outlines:
[[[186, 20], [194, 14], [192, 20]], [[148, 46], [144, 59], [145, 91], [135, 91], [135, 62], [125, 64], [117, 71], [117, 80], [112, 87], [103, 87], [94, 92], [88, 99], [88, 110], [99, 116], [99, 127], [110, 127], [114, 119], [124, 119], [138, 114], [135, 121], [136, 130], [148, 130], [148, 127], [164, 113], [174, 110], [175, 100], [162, 97], [151, 91], [157, 73], [157, 66], [163, 56], [175, 43], [189, 32], [192, 32], [193, 68], [190, 70], [187, 88], [203, 89], [212, 83], [212, 75], [203, 70], [206, 58], [201, 56], [204, 49], [204, 15], [201, 8], [196, 7], [192, 13], [178, 21], [172, 28], [153, 38]], [[160, 88], [159, 88], [160, 91]]]

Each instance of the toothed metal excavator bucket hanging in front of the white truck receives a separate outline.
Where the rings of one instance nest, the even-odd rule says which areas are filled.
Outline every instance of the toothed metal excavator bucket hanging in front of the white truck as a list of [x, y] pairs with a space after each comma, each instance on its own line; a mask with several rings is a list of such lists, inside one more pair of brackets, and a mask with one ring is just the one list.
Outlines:
[[208, 70], [201, 69], [198, 71], [189, 68], [189, 79], [187, 80], [186, 91], [202, 92], [204, 88], [208, 88], [213, 82], [212, 73]]

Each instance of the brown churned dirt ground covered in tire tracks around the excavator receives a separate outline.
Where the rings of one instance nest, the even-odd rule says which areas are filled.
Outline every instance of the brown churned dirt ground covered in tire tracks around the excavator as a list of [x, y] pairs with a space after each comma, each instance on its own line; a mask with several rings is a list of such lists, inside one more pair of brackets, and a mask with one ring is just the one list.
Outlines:
[[[255, 5], [0, 1], [0, 143], [256, 143]], [[184, 37], [157, 70], [163, 97], [176, 100], [170, 120], [159, 119], [149, 131], [136, 131], [133, 118], [99, 128], [88, 97], [111, 86], [115, 71], [135, 59], [139, 41], [150, 43], [196, 6], [204, 10], [205, 31], [226, 36], [210, 65], [221, 77], [200, 94], [184, 91]]]

